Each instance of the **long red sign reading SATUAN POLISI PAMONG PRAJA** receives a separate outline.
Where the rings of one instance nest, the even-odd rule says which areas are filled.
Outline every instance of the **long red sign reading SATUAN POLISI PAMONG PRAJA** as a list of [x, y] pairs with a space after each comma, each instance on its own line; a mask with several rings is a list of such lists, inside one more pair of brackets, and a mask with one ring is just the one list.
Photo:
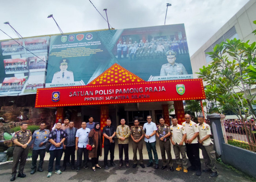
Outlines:
[[35, 107], [205, 99], [202, 79], [37, 89]]

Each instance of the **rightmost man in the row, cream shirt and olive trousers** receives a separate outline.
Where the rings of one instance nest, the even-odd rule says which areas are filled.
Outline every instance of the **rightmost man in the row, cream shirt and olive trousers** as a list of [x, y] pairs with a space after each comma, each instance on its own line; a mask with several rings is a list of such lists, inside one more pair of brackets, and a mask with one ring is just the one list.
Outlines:
[[198, 141], [200, 143], [199, 148], [202, 150], [204, 163], [206, 169], [203, 172], [212, 172], [211, 177], [217, 177], [217, 167], [216, 167], [216, 156], [215, 151], [213, 149], [213, 142], [211, 141], [211, 127], [209, 124], [204, 123], [204, 116], [198, 116], [198, 129], [199, 129], [199, 136]]

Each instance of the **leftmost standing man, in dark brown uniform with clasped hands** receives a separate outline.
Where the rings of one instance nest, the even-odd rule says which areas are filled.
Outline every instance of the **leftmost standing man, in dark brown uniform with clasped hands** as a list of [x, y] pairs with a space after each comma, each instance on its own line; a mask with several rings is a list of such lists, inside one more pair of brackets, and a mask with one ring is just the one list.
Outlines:
[[26, 174], [23, 174], [23, 170], [26, 164], [27, 154], [29, 153], [29, 147], [27, 147], [27, 145], [29, 145], [32, 139], [31, 131], [27, 130], [27, 123], [20, 124], [20, 131], [15, 132], [15, 135], [12, 139], [16, 146], [13, 151], [12, 178], [10, 181], [15, 180], [19, 161], [20, 164], [18, 177], [26, 177]]

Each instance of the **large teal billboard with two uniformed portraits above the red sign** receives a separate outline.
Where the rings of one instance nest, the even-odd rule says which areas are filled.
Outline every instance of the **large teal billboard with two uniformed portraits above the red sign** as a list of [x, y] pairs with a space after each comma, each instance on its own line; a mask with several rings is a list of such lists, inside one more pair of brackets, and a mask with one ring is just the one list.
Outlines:
[[192, 79], [184, 24], [51, 36], [45, 87], [84, 86], [114, 63], [145, 81]]

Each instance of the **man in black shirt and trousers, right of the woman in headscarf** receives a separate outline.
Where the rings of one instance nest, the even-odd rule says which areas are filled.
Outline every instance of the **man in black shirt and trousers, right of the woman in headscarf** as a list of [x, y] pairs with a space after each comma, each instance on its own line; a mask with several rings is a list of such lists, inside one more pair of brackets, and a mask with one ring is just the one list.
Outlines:
[[116, 166], [114, 161], [114, 150], [115, 150], [115, 143], [114, 143], [114, 136], [116, 135], [116, 128], [111, 125], [110, 118], [107, 119], [107, 126], [103, 127], [102, 130], [104, 136], [104, 165], [105, 169], [108, 170], [108, 154], [110, 151], [110, 166]]

